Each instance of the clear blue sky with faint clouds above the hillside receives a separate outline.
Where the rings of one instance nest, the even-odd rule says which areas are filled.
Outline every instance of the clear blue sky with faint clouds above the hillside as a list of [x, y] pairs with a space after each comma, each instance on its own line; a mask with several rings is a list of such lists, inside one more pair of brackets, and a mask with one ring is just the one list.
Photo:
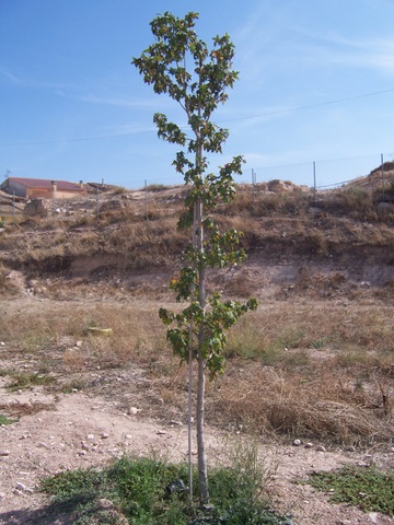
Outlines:
[[223, 155], [246, 160], [240, 182], [317, 186], [393, 160], [393, 0], [0, 0], [0, 174], [176, 184], [177, 148], [152, 117], [183, 124], [130, 65], [150, 21], [197, 11], [198, 35], [229, 33], [240, 80], [213, 120]]

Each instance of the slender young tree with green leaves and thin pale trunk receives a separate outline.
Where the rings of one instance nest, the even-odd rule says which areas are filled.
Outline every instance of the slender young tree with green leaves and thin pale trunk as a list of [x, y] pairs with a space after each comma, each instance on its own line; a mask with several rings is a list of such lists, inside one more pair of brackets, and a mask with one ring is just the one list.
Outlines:
[[237, 72], [232, 70], [234, 46], [229, 35], [216, 36], [209, 50], [195, 32], [197, 19], [194, 12], [184, 19], [169, 12], [153, 19], [150, 25], [155, 43], [139, 58], [134, 58], [132, 63], [155, 93], [166, 93], [181, 105], [192, 132], [188, 137], [163, 114], [153, 117], [159, 137], [186, 150], [176, 154], [173, 164], [190, 186], [179, 226], [190, 229], [192, 238], [183, 256], [184, 266], [170, 288], [176, 292], [177, 301], [187, 301], [187, 306], [181, 313], [161, 308], [160, 317], [167, 326], [167, 339], [174, 353], [189, 364], [189, 407], [192, 363], [194, 359], [197, 361], [198, 489], [200, 503], [205, 505], [209, 502], [204, 439], [206, 375], [215, 380], [223, 372], [224, 330], [248, 310], [256, 310], [257, 303], [254, 299], [245, 304], [223, 302], [218, 292], [211, 295], [206, 292], [208, 268], [221, 269], [245, 258], [244, 250], [239, 247], [240, 233], [235, 230], [221, 233], [209, 214], [219, 202], [233, 199], [233, 174], [242, 173], [244, 161], [235, 156], [219, 167], [218, 174], [208, 173], [206, 153], [221, 153], [229, 135], [227, 129], [211, 122], [211, 116], [218, 105], [227, 101], [227, 90], [233, 86]]

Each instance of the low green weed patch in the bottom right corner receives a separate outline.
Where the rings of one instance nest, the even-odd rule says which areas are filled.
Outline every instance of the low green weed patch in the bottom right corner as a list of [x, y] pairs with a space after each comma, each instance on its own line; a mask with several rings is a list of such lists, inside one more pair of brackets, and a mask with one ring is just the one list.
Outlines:
[[347, 466], [332, 472], [313, 472], [308, 482], [320, 491], [333, 492], [331, 501], [394, 517], [394, 470]]

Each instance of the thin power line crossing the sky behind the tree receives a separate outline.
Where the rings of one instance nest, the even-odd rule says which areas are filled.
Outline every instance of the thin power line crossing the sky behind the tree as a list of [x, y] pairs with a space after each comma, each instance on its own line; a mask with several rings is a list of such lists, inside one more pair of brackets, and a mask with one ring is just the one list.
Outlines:
[[[344, 102], [351, 102], [351, 101], [357, 101], [360, 98], [367, 98], [370, 96], [378, 96], [378, 95], [384, 95], [386, 93], [393, 93], [394, 88], [390, 90], [382, 90], [382, 91], [374, 91], [371, 93], [364, 93], [361, 95], [355, 95], [355, 96], [348, 96], [345, 98], [335, 98], [333, 101], [326, 101], [326, 102], [320, 102], [316, 104], [308, 104], [304, 106], [296, 106], [296, 107], [289, 107], [287, 109], [278, 109], [275, 112], [266, 112], [266, 113], [260, 113], [257, 115], [248, 115], [248, 116], [243, 116], [243, 117], [234, 117], [234, 118], [229, 118], [225, 119], [224, 122], [233, 122], [233, 121], [240, 121], [240, 120], [252, 120], [255, 118], [263, 118], [263, 117], [271, 117], [275, 115], [283, 115], [286, 113], [293, 113], [293, 112], [301, 112], [304, 109], [312, 109], [315, 107], [323, 107], [323, 106], [328, 106], [328, 105], [334, 105], [334, 104], [341, 104]], [[74, 139], [53, 139], [53, 140], [37, 140], [37, 141], [21, 141], [21, 142], [2, 142], [0, 143], [1, 147], [3, 145], [39, 145], [39, 144], [58, 144], [58, 143], [65, 143], [65, 142], [83, 142], [83, 141], [90, 141], [90, 140], [105, 140], [105, 139], [120, 139], [125, 137], [135, 137], [138, 135], [146, 135], [146, 133], [152, 133], [157, 132], [155, 128], [152, 128], [150, 130], [146, 131], [134, 131], [129, 133], [115, 133], [115, 135], [102, 135], [102, 136], [92, 136], [92, 137], [78, 137]]]

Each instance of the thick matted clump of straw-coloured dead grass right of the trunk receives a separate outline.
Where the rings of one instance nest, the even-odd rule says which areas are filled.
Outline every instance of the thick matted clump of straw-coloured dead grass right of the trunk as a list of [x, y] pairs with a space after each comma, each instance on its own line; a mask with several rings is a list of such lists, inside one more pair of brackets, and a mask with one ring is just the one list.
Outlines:
[[352, 399], [349, 395], [340, 398], [338, 384], [332, 383], [327, 392], [317, 377], [300, 377], [297, 382], [285, 372], [247, 370], [239, 378], [222, 381], [211, 401], [210, 415], [263, 434], [343, 443], [391, 439], [381, 412], [367, 402], [360, 405], [358, 393]]

